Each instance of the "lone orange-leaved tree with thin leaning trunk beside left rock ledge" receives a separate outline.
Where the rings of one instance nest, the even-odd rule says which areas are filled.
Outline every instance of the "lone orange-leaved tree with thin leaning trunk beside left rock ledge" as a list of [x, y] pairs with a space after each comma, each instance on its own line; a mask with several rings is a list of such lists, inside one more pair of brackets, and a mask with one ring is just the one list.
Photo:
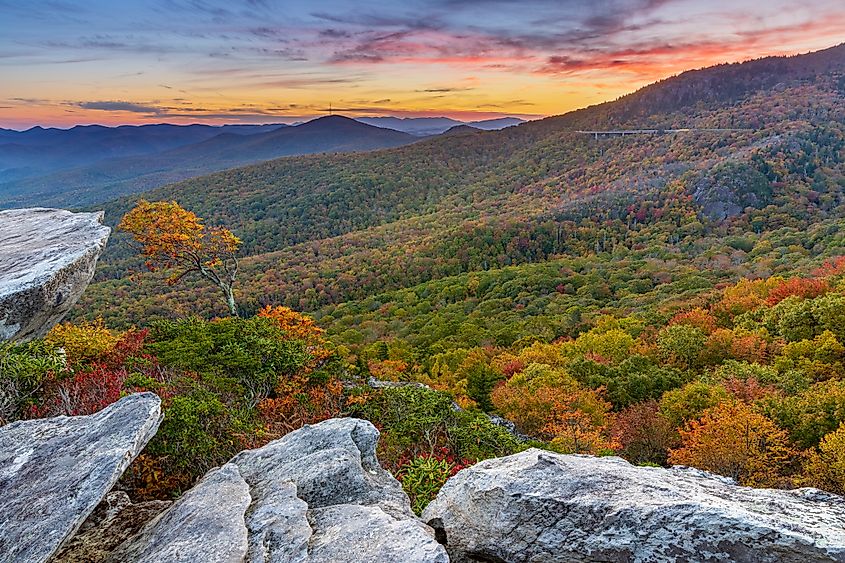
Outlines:
[[237, 316], [232, 286], [238, 274], [236, 254], [241, 241], [231, 231], [206, 227], [202, 219], [175, 201], [145, 200], [123, 216], [118, 228], [132, 235], [150, 270], [174, 269], [168, 284], [198, 273], [220, 288], [229, 313]]

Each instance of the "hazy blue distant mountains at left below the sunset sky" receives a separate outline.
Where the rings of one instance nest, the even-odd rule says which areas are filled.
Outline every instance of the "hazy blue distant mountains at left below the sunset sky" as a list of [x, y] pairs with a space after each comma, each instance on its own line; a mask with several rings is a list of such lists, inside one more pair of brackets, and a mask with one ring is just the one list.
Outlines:
[[416, 140], [341, 116], [297, 126], [0, 130], [0, 208], [77, 207], [281, 156], [368, 151]]

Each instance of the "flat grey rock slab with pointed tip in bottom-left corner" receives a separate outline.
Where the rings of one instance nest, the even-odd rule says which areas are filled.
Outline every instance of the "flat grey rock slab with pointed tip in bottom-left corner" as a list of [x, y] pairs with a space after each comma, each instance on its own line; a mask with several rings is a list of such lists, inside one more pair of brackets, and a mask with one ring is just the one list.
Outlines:
[[89, 416], [0, 427], [0, 563], [46, 561], [155, 435], [161, 401], [124, 397]]

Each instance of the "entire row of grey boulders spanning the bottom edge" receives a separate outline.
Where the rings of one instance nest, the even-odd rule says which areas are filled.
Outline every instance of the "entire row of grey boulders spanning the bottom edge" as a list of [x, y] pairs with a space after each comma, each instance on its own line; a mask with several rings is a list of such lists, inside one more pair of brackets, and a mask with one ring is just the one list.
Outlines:
[[461, 471], [419, 519], [350, 418], [133, 505], [109, 491], [159, 407], [142, 393], [0, 428], [0, 562], [845, 561], [842, 497], [536, 449]]

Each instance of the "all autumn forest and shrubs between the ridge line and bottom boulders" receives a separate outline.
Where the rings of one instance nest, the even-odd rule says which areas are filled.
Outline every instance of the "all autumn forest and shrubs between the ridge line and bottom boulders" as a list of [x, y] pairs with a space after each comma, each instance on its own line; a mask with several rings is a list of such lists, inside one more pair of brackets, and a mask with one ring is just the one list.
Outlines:
[[[736, 130], [576, 132], [602, 127]], [[144, 198], [242, 242], [240, 317], [201, 276], [144, 271], [118, 234], [71, 323], [0, 350], [20, 378], [0, 416], [155, 390], [162, 430], [126, 484], [142, 498], [338, 415], [380, 428], [417, 510], [461, 467], [529, 446], [843, 494], [843, 190], [845, 47], [165, 186]]]

